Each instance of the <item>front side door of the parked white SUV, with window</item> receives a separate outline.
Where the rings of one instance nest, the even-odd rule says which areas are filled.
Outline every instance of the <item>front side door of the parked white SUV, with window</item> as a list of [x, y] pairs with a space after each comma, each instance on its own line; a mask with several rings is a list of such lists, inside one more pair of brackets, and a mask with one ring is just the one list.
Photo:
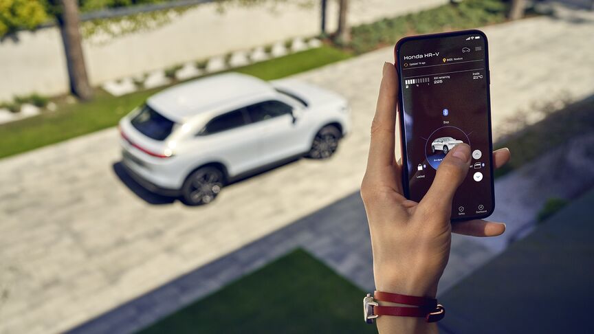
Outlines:
[[293, 107], [278, 100], [268, 100], [248, 107], [253, 124], [259, 124], [259, 152], [263, 164], [301, 153], [304, 140], [294, 122]]

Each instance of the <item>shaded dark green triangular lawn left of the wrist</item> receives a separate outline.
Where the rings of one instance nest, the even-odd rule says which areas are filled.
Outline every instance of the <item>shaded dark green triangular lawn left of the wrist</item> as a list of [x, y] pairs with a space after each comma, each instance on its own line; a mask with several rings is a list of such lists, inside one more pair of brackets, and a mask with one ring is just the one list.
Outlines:
[[377, 333], [363, 296], [297, 249], [140, 333]]

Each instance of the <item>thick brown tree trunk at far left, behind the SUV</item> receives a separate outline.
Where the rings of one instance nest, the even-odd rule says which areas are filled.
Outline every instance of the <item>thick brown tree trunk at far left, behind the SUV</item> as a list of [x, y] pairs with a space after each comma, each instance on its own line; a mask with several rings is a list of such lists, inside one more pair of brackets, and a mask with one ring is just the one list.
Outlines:
[[93, 89], [89, 85], [87, 67], [85, 67], [85, 55], [79, 30], [78, 3], [76, 0], [56, 2], [59, 5], [57, 19], [66, 54], [70, 91], [80, 100], [90, 100], [93, 98]]

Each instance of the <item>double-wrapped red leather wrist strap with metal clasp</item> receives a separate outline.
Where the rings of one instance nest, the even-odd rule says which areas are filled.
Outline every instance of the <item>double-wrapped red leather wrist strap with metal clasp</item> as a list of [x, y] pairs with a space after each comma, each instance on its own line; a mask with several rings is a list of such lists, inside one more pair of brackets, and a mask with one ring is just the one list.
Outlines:
[[[380, 306], [376, 300], [380, 302], [406, 304], [412, 307]], [[445, 316], [445, 309], [440, 304], [437, 304], [437, 299], [406, 296], [382, 291], [375, 291], [373, 296], [371, 296], [371, 293], [368, 293], [363, 300], [363, 308], [367, 323], [372, 323], [380, 315], [425, 318], [427, 322], [437, 322]]]

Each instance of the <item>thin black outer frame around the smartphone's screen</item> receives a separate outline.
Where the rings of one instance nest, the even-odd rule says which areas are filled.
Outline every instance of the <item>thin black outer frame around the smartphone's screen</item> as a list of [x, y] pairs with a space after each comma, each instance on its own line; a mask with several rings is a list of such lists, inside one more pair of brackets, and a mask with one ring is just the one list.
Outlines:
[[467, 35], [467, 34], [478, 34], [481, 35], [481, 38], [485, 40], [485, 67], [487, 71], [485, 71], [485, 75], [487, 76], [487, 123], [488, 128], [487, 131], [489, 133], [489, 171], [490, 171], [490, 180], [491, 180], [491, 209], [484, 214], [475, 214], [473, 216], [463, 216], [463, 217], [454, 217], [453, 214], [450, 216], [452, 221], [467, 221], [471, 219], [483, 219], [491, 214], [493, 214], [495, 210], [495, 186], [494, 186], [494, 177], [493, 177], [493, 137], [492, 137], [492, 125], [491, 125], [491, 71], [489, 69], [489, 41], [487, 39], [487, 35], [482, 32], [481, 30], [471, 29], [471, 30], [459, 30], [456, 32], [442, 32], [439, 34], [424, 34], [424, 35], [417, 35], [417, 36], [406, 36], [400, 38], [400, 40], [396, 43], [394, 47], [394, 59], [396, 70], [398, 72], [398, 122], [399, 122], [399, 129], [400, 129], [400, 152], [401, 152], [401, 159], [402, 159], [402, 188], [404, 190], [404, 197], [410, 199], [410, 185], [408, 183], [408, 157], [406, 151], [406, 136], [404, 134], [404, 114], [401, 112], [404, 110], [404, 98], [402, 96], [402, 81], [400, 80], [402, 75], [402, 68], [400, 66], [400, 48], [401, 46], [408, 42], [408, 41], [418, 41], [418, 40], [425, 40], [425, 39], [432, 39], [432, 38], [443, 38], [443, 37], [452, 37], [452, 36], [460, 36], [460, 35]]

